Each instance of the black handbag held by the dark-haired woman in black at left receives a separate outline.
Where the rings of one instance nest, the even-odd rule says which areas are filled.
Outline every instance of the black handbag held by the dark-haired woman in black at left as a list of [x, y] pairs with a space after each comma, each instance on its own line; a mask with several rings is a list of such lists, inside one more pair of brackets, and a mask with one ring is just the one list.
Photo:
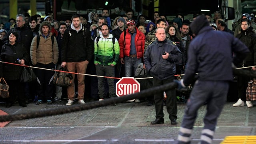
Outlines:
[[35, 82], [36, 80], [37, 77], [32, 68], [24, 67], [20, 75], [20, 82]]

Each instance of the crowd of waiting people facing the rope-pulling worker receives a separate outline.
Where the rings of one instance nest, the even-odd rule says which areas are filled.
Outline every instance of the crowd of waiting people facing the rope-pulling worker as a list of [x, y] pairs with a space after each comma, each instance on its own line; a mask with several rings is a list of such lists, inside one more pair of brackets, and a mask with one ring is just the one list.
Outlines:
[[[254, 14], [242, 14], [241, 19], [234, 22], [232, 30], [228, 29], [218, 11], [214, 12], [213, 18], [210, 13], [194, 14], [193, 20], [198, 16], [206, 18], [204, 26], [207, 24], [207, 28], [228, 32], [249, 48], [248, 56], [239, 67], [256, 64]], [[74, 14], [60, 21], [54, 20], [52, 13], [44, 18], [38, 14], [18, 14], [16, 20], [11, 18], [1, 25], [0, 61], [51, 70], [66, 67], [69, 72], [80, 74], [72, 73], [72, 84], [60, 87], [52, 84], [53, 71], [34, 69], [37, 82], [22, 84], [19, 81], [22, 67], [1, 63], [0, 76], [10, 84], [10, 98], [4, 100], [6, 107], [16, 101], [25, 107], [31, 100], [35, 100], [36, 104], [52, 104], [66, 98], [66, 105], [71, 106], [76, 99], [79, 104], [85, 104], [86, 100], [114, 98], [116, 80], [82, 74], [130, 77], [136, 75], [136, 69], [141, 64], [153, 77], [153, 86], [172, 82], [176, 79], [174, 75], [186, 74], [190, 44], [197, 35], [195, 32], [200, 32], [200, 28], [204, 27], [195, 26], [193, 31], [190, 26], [190, 20], [180, 13], [173, 20], [167, 20], [159, 12], [154, 12], [152, 19], [143, 14], [135, 18], [132, 9], [126, 10], [125, 15], [117, 16], [114, 20], [110, 18], [110, 10], [107, 8], [102, 9], [101, 14], [90, 12], [88, 18]], [[256, 70], [255, 67], [248, 69]], [[239, 99], [233, 104], [234, 107], [244, 106], [244, 102], [252, 107], [251, 101], [246, 99], [249, 80], [238, 76]], [[156, 120], [151, 124], [164, 123], [163, 105], [167, 106], [171, 124], [177, 124], [175, 90], [149, 96], [146, 100], [148, 106], [155, 104], [156, 107]], [[140, 101], [135, 99], [134, 102]]]

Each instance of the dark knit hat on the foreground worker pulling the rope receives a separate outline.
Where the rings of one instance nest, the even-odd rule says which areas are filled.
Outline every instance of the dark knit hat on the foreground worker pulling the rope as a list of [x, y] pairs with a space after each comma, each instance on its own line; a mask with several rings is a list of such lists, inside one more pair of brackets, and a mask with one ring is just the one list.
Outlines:
[[191, 23], [190, 28], [192, 32], [197, 35], [198, 32], [205, 26], [209, 26], [209, 22], [205, 16], [199, 15], [196, 17], [196, 20]]

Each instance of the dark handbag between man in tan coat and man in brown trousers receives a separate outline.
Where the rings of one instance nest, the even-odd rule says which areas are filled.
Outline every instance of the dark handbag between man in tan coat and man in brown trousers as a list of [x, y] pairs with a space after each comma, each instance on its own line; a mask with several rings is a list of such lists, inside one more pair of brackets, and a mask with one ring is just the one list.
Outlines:
[[64, 71], [64, 72], [56, 72], [54, 74], [54, 78], [53, 78], [53, 84], [56, 84], [57, 86], [69, 86], [70, 84], [72, 84], [72, 79], [73, 76], [72, 74], [68, 73], [68, 69], [66, 67], [61, 67], [60, 71]]

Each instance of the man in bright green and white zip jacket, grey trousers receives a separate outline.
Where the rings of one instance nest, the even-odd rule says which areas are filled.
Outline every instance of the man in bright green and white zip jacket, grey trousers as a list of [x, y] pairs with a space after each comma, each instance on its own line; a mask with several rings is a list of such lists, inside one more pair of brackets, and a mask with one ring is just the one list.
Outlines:
[[[114, 68], [119, 58], [118, 40], [109, 34], [109, 27], [106, 24], [101, 26], [102, 34], [94, 40], [94, 64], [98, 76], [114, 77]], [[98, 42], [97, 42], [98, 39]], [[104, 100], [104, 78], [98, 77], [98, 89], [100, 100]], [[108, 92], [115, 97], [114, 79], [108, 78]]]

